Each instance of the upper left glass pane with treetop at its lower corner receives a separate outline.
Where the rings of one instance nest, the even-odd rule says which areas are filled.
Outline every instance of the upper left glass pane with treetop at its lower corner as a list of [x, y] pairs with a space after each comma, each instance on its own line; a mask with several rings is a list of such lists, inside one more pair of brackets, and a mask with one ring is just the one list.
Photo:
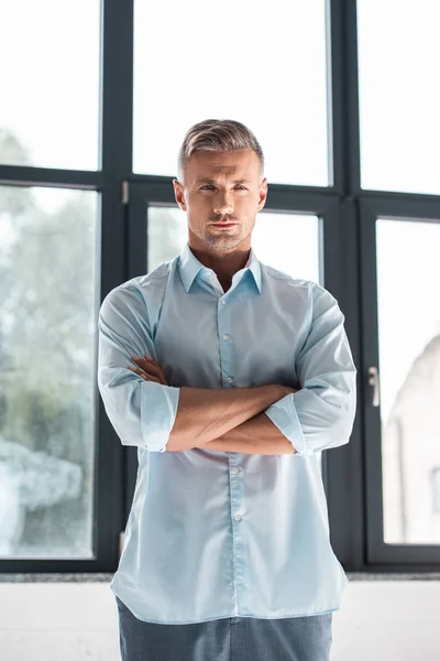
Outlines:
[[0, 163], [98, 167], [100, 0], [0, 0]]

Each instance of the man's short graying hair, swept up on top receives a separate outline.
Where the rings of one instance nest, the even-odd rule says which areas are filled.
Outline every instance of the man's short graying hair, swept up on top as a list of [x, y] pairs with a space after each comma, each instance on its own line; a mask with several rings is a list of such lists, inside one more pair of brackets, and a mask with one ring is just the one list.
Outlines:
[[256, 152], [261, 163], [260, 173], [263, 176], [263, 150], [248, 127], [233, 119], [199, 121], [188, 129], [182, 143], [177, 161], [177, 177], [180, 182], [184, 181], [185, 164], [195, 152], [226, 152], [242, 149], [253, 149]]

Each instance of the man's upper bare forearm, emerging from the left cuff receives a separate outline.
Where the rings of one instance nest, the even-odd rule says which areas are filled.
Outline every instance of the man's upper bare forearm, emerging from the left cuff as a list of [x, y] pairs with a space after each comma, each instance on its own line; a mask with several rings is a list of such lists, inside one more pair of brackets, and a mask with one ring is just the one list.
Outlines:
[[[166, 449], [179, 452], [201, 447], [220, 438], [262, 413], [292, 390], [278, 384], [219, 390], [182, 387], [176, 420]], [[267, 415], [265, 418], [275, 427]]]

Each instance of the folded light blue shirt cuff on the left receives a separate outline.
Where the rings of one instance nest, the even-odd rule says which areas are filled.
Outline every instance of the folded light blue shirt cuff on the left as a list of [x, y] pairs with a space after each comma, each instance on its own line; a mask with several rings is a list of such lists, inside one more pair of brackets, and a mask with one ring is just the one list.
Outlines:
[[176, 421], [180, 388], [148, 381], [141, 383], [141, 426], [146, 449], [165, 452]]

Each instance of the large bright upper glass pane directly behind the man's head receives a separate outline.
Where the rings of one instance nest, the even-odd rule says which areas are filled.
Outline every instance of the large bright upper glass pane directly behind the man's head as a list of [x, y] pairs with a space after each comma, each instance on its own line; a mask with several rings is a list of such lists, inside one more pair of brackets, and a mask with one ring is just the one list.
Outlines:
[[134, 172], [176, 176], [186, 131], [218, 118], [254, 132], [270, 182], [329, 184], [326, 3], [255, 9], [188, 0], [170, 22], [166, 2], [134, 2]]

